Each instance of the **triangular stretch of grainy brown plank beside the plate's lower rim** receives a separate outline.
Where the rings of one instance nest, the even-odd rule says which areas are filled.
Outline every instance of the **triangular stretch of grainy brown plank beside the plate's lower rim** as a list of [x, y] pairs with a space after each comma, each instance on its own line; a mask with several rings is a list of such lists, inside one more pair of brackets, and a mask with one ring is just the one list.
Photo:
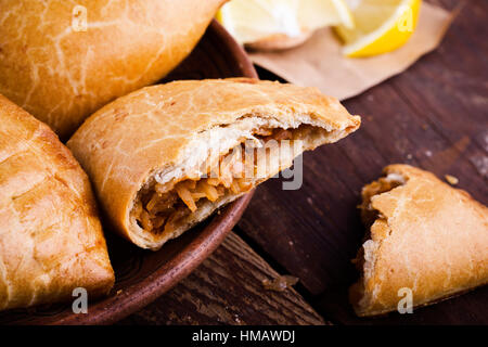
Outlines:
[[265, 290], [279, 277], [231, 233], [193, 273], [120, 324], [325, 324], [293, 288]]

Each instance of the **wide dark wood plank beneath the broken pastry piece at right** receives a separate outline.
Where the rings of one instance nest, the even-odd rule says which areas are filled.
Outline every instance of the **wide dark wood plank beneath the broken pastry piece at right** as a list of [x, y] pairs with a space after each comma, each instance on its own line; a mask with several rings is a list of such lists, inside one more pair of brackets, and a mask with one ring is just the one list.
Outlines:
[[486, 287], [415, 314], [376, 320], [356, 319], [346, 297], [357, 278], [350, 259], [364, 233], [359, 192], [384, 166], [407, 163], [453, 175], [460, 188], [488, 204], [487, 20], [488, 1], [466, 2], [438, 50], [346, 101], [362, 116], [361, 128], [305, 154], [300, 190], [283, 191], [280, 180], [262, 184], [239, 223], [266, 259], [300, 278], [304, 294], [334, 322], [488, 323]]

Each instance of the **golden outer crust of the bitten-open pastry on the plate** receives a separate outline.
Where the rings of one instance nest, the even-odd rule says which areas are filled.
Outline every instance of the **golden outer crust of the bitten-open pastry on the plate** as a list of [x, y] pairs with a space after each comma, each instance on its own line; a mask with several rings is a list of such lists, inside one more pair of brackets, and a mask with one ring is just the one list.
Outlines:
[[134, 239], [129, 221], [136, 194], [151, 172], [183, 162], [195, 134], [252, 116], [288, 124], [307, 116], [336, 131], [329, 142], [360, 125], [359, 117], [314, 88], [247, 78], [190, 80], [117, 99], [89, 117], [67, 145], [90, 176], [118, 232], [153, 247]]

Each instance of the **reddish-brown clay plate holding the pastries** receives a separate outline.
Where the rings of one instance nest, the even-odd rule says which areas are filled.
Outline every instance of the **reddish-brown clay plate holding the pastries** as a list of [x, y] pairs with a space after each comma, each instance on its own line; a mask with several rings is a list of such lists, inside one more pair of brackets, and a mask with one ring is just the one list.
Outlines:
[[[240, 76], [257, 77], [242, 48], [214, 21], [191, 55], [164, 81]], [[167, 292], [210, 255], [237, 222], [252, 195], [223, 207], [158, 252], [140, 249], [105, 232], [116, 278], [108, 297], [90, 303], [86, 314], [73, 313], [70, 303], [56, 304], [2, 312], [0, 324], [110, 324], [127, 317]]]

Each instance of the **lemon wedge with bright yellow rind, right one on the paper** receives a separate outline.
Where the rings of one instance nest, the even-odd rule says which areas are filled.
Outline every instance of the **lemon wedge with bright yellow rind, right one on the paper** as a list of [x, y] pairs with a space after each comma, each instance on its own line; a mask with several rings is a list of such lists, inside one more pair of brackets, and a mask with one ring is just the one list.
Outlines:
[[390, 52], [403, 46], [415, 29], [422, 0], [349, 0], [355, 28], [335, 27], [351, 57]]

